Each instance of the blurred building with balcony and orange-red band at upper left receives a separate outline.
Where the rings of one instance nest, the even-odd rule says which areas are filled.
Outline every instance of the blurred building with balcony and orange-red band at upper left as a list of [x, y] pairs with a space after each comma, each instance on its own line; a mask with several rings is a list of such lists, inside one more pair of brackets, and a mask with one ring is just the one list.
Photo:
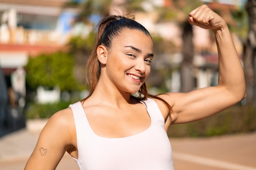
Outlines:
[[[25, 69], [29, 57], [60, 50], [68, 41], [77, 9], [65, 0], [0, 1], [0, 68], [8, 91], [10, 116], [25, 105]], [[2, 95], [2, 94], [1, 94]]]

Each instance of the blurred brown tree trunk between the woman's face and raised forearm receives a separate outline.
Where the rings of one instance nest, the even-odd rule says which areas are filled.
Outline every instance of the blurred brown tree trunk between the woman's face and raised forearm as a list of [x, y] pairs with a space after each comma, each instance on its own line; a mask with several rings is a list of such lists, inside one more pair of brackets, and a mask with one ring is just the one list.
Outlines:
[[194, 89], [192, 64], [194, 56], [193, 30], [189, 22], [184, 23], [182, 40], [182, 67], [181, 67], [181, 92], [190, 92]]

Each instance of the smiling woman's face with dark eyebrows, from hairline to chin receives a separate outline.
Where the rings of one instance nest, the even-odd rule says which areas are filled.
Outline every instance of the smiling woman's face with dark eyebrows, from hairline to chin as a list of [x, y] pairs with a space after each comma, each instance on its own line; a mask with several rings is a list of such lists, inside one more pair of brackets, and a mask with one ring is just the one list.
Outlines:
[[106, 81], [119, 92], [135, 93], [150, 74], [153, 41], [142, 31], [124, 29], [107, 54]]

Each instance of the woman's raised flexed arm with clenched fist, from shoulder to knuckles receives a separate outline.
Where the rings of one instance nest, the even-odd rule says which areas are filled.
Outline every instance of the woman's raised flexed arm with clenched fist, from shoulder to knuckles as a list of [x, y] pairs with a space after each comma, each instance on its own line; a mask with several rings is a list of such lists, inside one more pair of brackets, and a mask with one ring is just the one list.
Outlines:
[[[245, 78], [240, 59], [226, 22], [206, 5], [193, 10], [190, 24], [211, 29], [215, 34], [219, 56], [219, 81], [216, 87], [189, 93], [160, 95], [173, 107], [171, 123], [184, 123], [209, 117], [245, 98]], [[159, 103], [159, 102], [158, 102]], [[159, 104], [166, 115], [166, 109]]]

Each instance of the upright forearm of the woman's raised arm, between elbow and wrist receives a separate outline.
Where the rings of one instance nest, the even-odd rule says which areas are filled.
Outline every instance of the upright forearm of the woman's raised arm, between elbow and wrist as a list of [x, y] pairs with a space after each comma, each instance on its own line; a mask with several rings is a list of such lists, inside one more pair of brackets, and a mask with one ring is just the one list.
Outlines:
[[219, 85], [237, 96], [245, 96], [243, 67], [227, 25], [214, 31], [219, 55]]

